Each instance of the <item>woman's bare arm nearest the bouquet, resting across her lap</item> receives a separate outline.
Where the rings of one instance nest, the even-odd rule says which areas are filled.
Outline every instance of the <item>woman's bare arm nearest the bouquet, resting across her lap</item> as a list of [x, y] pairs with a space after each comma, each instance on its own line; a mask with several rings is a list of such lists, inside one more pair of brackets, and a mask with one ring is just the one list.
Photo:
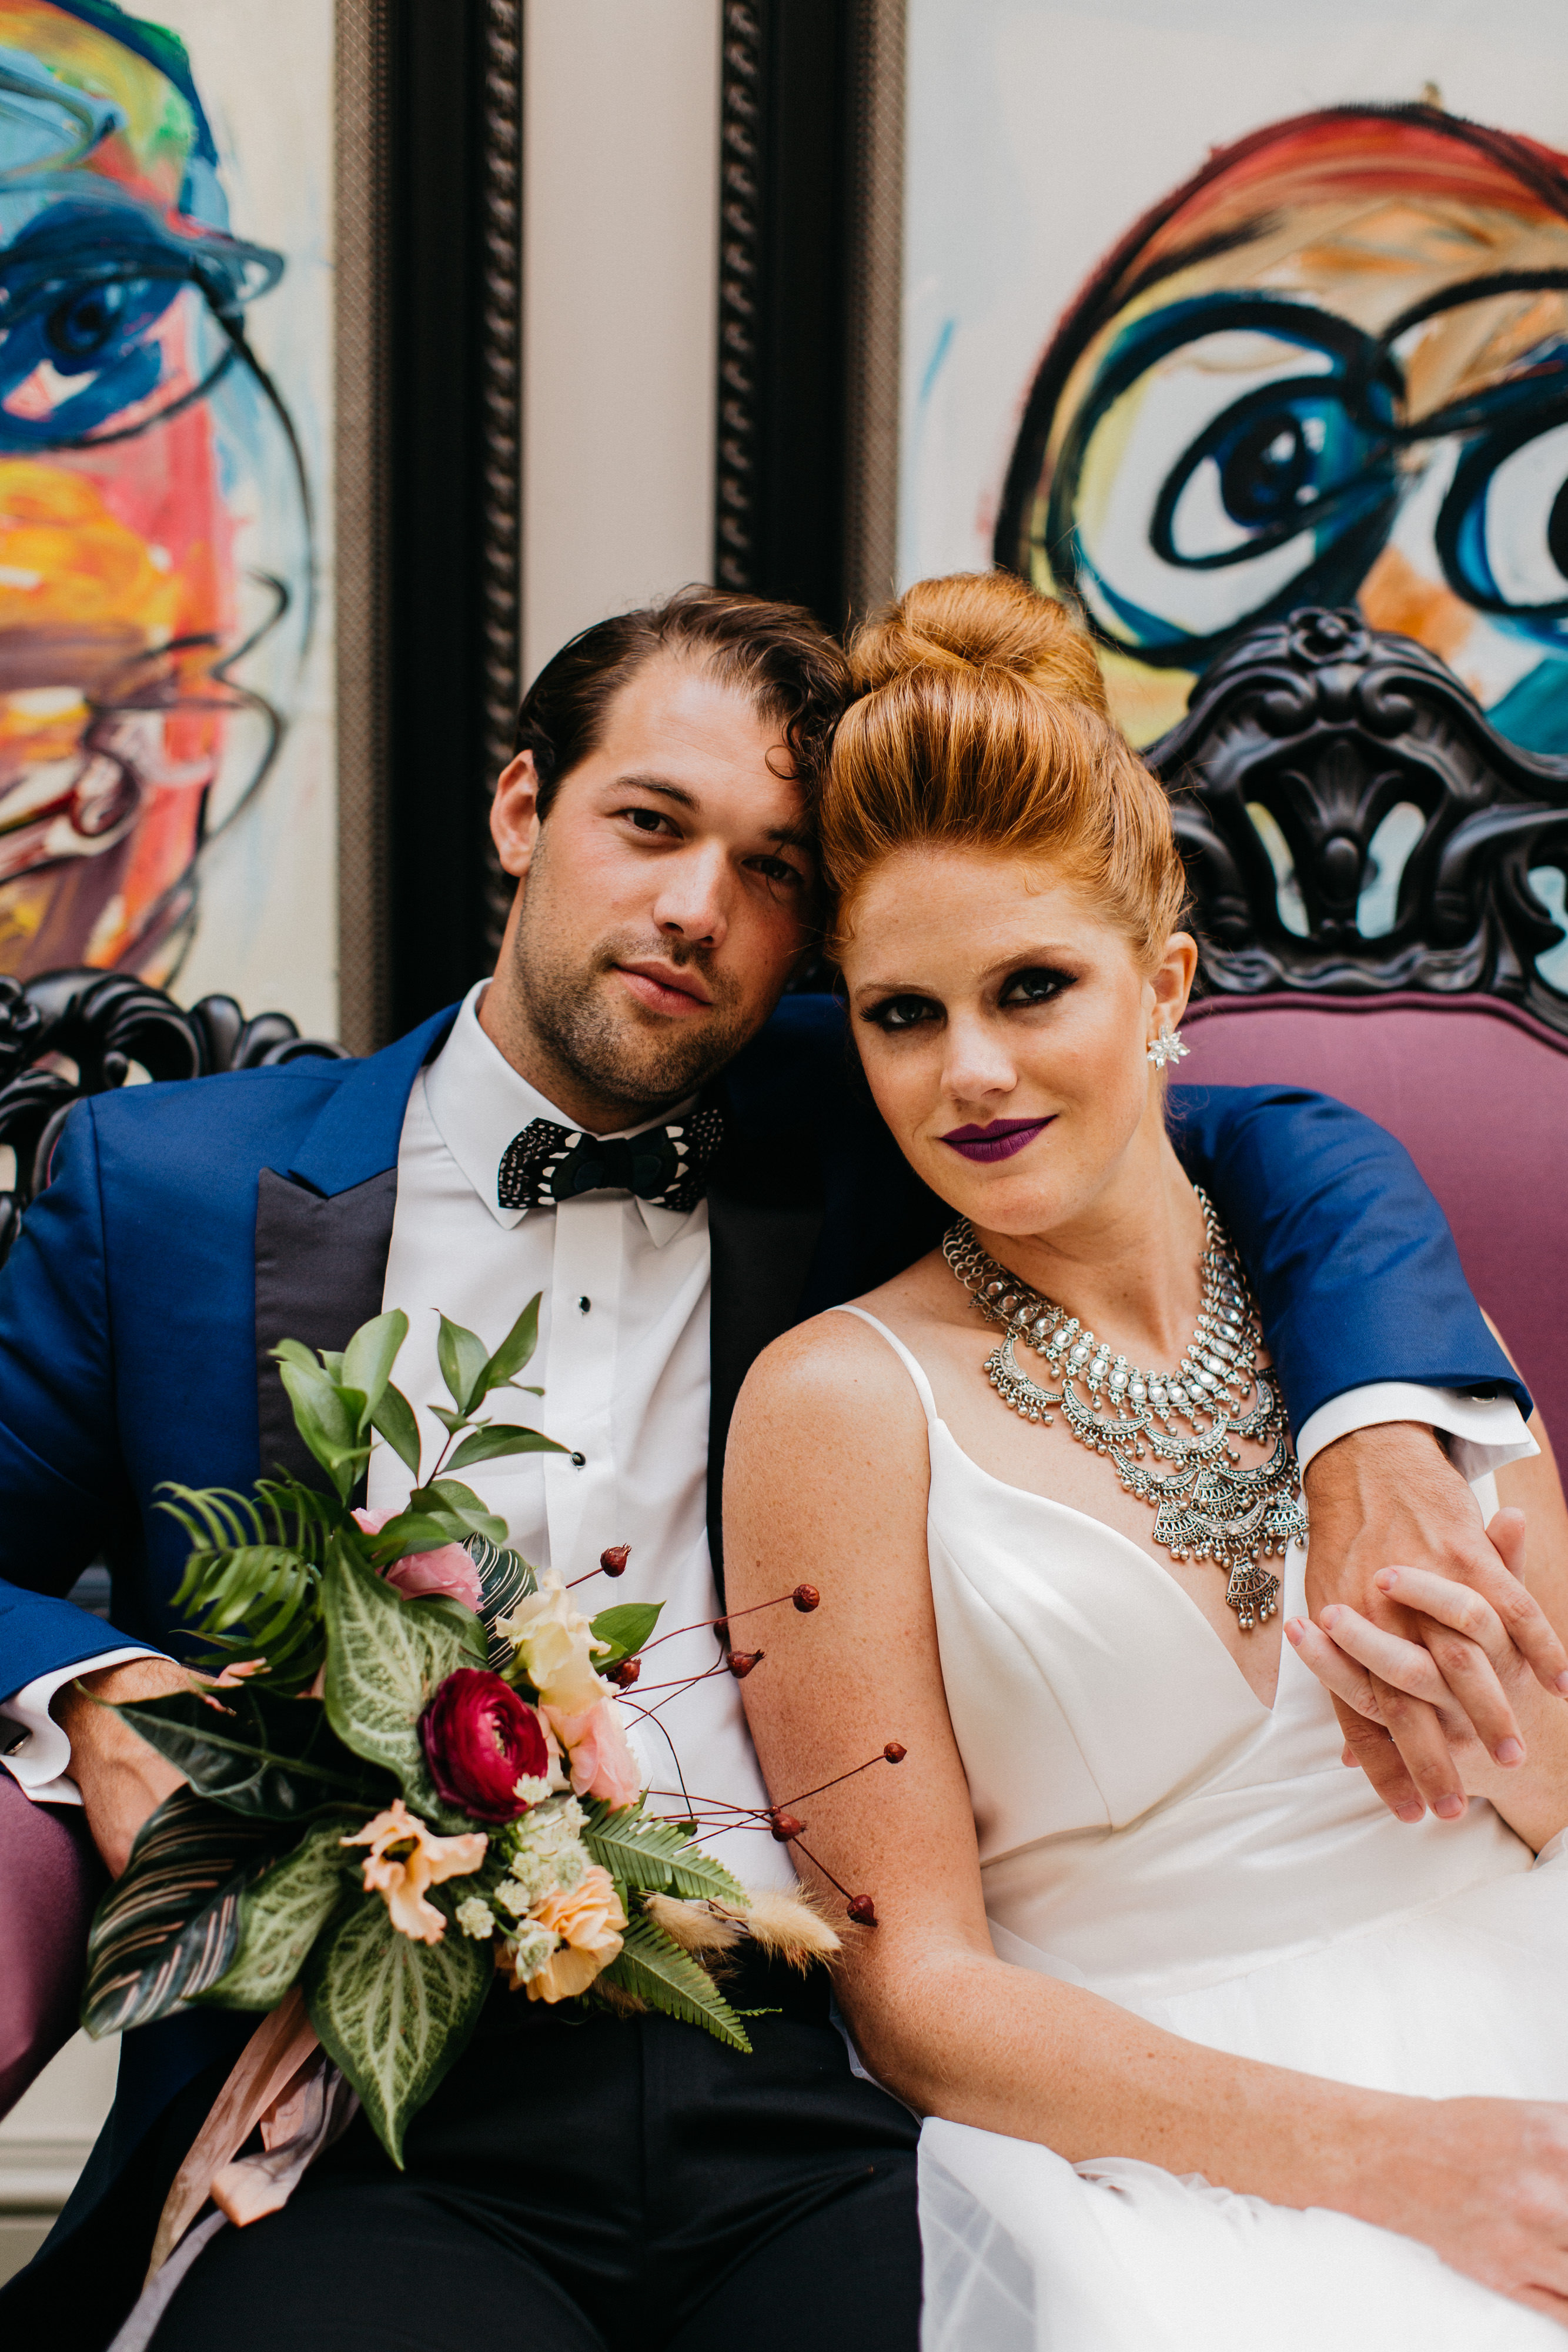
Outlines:
[[[1568, 2317], [1568, 2110], [1255, 2065], [994, 1957], [943, 1698], [926, 1479], [914, 1392], [863, 1324], [823, 1317], [752, 1369], [729, 1439], [729, 1602], [809, 1578], [823, 1606], [771, 1618], [745, 1708], [776, 1802], [875, 1896], [879, 1924], [846, 1929], [839, 1980], [867, 2065], [917, 2112], [1356, 2213]], [[907, 1748], [898, 1771], [797, 1797], [886, 1740]]]

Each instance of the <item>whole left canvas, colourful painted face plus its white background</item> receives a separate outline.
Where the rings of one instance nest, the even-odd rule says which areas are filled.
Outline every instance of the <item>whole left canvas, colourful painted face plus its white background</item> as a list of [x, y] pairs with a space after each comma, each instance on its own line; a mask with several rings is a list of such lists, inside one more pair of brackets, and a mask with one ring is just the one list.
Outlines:
[[336, 1018], [331, 9], [0, 0], [0, 974]]

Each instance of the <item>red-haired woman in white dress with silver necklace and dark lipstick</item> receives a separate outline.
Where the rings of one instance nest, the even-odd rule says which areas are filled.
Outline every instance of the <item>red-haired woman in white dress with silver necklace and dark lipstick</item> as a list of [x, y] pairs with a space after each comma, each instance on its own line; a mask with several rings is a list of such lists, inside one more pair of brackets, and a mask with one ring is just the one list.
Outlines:
[[[1458, 1818], [1345, 1769], [1331, 1691], [1448, 1691], [1422, 1644], [1305, 1611], [1246, 1275], [1164, 1124], [1197, 960], [1164, 795], [1018, 583], [924, 583], [856, 661], [837, 948], [954, 1230], [762, 1357], [726, 1562], [733, 1609], [804, 1566], [823, 1592], [745, 1684], [769, 1785], [907, 1748], [799, 1813], [875, 1893], [839, 1997], [926, 2117], [926, 2352], [1544, 2352], [1568, 1705], [1474, 1592], [1389, 1566], [1514, 1722], [1460, 1743]], [[1544, 1442], [1476, 1489], [1568, 1632]]]

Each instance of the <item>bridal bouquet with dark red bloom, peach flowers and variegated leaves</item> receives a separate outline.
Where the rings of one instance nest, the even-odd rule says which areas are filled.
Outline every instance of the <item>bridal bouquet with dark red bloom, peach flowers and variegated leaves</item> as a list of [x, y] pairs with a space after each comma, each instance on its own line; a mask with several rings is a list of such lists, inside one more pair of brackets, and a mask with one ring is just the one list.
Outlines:
[[[806, 1905], [785, 1924], [778, 1898], [748, 1896], [696, 1820], [646, 1811], [616, 1693], [658, 1604], [583, 1616], [454, 1475], [564, 1451], [480, 1418], [520, 1385], [538, 1298], [494, 1352], [442, 1317], [451, 1404], [435, 1409], [447, 1444], [423, 1484], [393, 1385], [407, 1329], [388, 1312], [341, 1355], [273, 1350], [329, 1491], [167, 1489], [160, 1508], [193, 1543], [176, 1604], [202, 1625], [200, 1665], [221, 1672], [118, 1710], [188, 1785], [99, 1905], [82, 1997], [87, 2030], [110, 2034], [193, 2004], [273, 2011], [299, 1985], [395, 2161], [496, 1971], [534, 2002], [663, 2009], [745, 2051], [703, 1955], [748, 1929], [792, 1957], [837, 1950]], [[414, 1479], [407, 1508], [378, 1517], [350, 1508], [374, 1435]], [[625, 1548], [599, 1566], [618, 1576]], [[816, 1606], [809, 1585], [785, 1599]], [[731, 1651], [715, 1670], [750, 1661]], [[776, 1835], [802, 1828], [780, 1818]]]

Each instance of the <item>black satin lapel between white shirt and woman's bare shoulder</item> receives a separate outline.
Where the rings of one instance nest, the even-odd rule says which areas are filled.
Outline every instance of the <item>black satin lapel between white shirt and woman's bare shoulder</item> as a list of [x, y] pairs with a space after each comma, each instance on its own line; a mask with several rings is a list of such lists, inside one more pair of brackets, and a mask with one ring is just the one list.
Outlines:
[[[776, 1188], [769, 1185], [766, 1192]], [[813, 1178], [804, 1197], [757, 1197], [757, 1188], [708, 1185], [712, 1324], [708, 1409], [708, 1550], [724, 1602], [724, 1444], [748, 1371], [780, 1331], [799, 1322], [806, 1270], [823, 1230]], [[748, 1197], [750, 1192], [750, 1197]]]

